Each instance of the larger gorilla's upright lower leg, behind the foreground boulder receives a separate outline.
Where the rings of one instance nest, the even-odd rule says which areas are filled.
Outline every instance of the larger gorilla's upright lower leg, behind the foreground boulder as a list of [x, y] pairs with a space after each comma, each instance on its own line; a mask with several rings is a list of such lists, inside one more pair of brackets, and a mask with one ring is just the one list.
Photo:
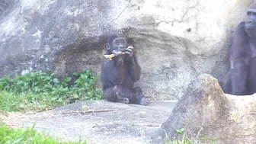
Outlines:
[[232, 94], [245, 95], [247, 91], [248, 66], [243, 61], [235, 62], [231, 73]]

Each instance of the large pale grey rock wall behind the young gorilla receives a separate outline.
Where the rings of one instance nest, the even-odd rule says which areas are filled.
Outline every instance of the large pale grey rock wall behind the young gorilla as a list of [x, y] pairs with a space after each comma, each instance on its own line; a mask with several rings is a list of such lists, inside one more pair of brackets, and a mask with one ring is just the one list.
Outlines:
[[0, 76], [99, 74], [106, 37], [119, 31], [134, 42], [146, 94], [180, 98], [196, 75], [229, 68], [232, 31], [251, 2], [1, 0]]

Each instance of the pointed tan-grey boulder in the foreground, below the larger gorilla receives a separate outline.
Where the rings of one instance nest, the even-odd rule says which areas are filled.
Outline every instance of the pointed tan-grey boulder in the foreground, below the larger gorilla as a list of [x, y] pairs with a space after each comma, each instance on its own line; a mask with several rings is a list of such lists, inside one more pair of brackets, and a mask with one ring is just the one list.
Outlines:
[[242, 97], [224, 94], [216, 78], [200, 75], [162, 124], [169, 139], [180, 137], [175, 130], [181, 128], [195, 140], [210, 138], [220, 144], [256, 143], [256, 94]]

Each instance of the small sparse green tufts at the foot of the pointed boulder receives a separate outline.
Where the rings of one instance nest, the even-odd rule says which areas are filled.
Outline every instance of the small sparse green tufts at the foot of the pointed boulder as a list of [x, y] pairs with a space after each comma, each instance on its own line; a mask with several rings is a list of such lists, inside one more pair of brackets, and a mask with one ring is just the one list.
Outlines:
[[[182, 135], [182, 139], [178, 140], [174, 137], [174, 140], [171, 141], [171, 139], [168, 139], [168, 137], [166, 136], [165, 144], [197, 144], [197, 142], [194, 142], [193, 140], [189, 139], [187, 136], [184, 135], [184, 129], [176, 130], [176, 133]], [[201, 140], [210, 140], [213, 141], [213, 144], [216, 144], [216, 139], [202, 138]]]

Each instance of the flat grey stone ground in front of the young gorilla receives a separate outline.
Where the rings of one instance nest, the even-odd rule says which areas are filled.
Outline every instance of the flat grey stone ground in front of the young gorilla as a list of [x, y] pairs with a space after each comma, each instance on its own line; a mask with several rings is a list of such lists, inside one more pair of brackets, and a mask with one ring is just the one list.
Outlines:
[[[46, 130], [62, 140], [87, 140], [88, 144], [161, 142], [159, 130], [168, 119], [176, 102], [154, 101], [149, 106], [85, 101], [31, 114], [9, 114], [2, 122], [11, 127], [30, 127]], [[85, 110], [113, 110], [78, 113]], [[76, 111], [76, 112], [75, 112]], [[66, 112], [66, 114], [64, 113]], [[1, 117], [0, 117], [1, 118]]]

